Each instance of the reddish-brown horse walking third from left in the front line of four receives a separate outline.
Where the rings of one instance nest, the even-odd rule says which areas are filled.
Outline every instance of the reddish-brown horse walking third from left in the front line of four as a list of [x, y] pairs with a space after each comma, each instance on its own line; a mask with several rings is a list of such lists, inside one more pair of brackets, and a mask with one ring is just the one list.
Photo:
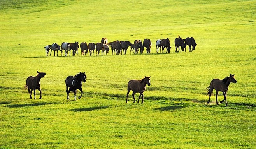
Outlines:
[[[142, 102], [144, 101], [144, 95], [143, 95], [143, 92], [145, 91], [146, 89], [146, 84], [148, 86], [150, 86], [150, 77], [144, 77], [143, 79], [141, 80], [130, 80], [128, 82], [128, 87], [127, 87], [127, 95], [126, 95], [126, 103], [127, 103], [127, 98], [128, 98], [128, 95], [129, 95], [129, 92], [132, 90], [133, 93], [132, 93], [132, 97], [133, 97], [133, 103], [135, 103], [135, 98], [134, 98], [134, 95], [139, 92], [140, 93], [140, 96], [142, 96]], [[140, 96], [139, 96], [139, 99], [138, 99], [138, 103], [139, 103], [139, 100], [140, 100]]]

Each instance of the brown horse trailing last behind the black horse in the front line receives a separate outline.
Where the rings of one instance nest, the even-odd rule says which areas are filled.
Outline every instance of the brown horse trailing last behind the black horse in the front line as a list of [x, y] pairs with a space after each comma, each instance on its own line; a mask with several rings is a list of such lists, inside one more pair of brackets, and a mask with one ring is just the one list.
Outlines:
[[[40, 92], [40, 97], [39, 99], [42, 99], [42, 91], [40, 88], [40, 79], [43, 78], [46, 73], [44, 72], [38, 72], [37, 71], [37, 76], [33, 77], [33, 76], [29, 76], [26, 80], [26, 86], [28, 87], [28, 93], [30, 95], [30, 99], [32, 99], [32, 90], [34, 90], [34, 99], [35, 99], [35, 89], [38, 89]], [[30, 90], [31, 89], [31, 90]]]

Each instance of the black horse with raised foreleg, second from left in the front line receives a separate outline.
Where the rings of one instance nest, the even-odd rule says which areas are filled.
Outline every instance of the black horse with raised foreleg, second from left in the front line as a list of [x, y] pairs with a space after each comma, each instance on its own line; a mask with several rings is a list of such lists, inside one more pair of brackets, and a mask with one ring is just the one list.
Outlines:
[[[67, 100], [69, 99], [69, 93], [70, 91], [74, 92], [75, 95], [75, 100], [76, 100], [76, 90], [79, 89], [81, 91], [81, 95], [78, 97], [78, 99], [80, 99], [82, 97], [82, 81], [85, 82], [86, 81], [86, 75], [85, 72], [79, 72], [75, 75], [75, 77], [73, 76], [68, 76], [65, 80], [66, 82], [66, 92], [67, 92]], [[69, 87], [69, 90], [68, 90]]]

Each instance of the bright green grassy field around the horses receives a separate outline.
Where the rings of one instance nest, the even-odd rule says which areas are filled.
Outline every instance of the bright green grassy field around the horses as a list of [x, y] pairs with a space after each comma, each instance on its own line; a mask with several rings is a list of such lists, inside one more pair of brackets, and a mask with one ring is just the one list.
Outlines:
[[[1, 1], [0, 149], [256, 148], [255, 7], [256, 0]], [[193, 36], [195, 51], [175, 53], [178, 35]], [[151, 54], [45, 57], [46, 45], [103, 37], [151, 39]], [[163, 38], [171, 53], [156, 53]], [[41, 100], [24, 87], [37, 70], [46, 72]], [[65, 79], [77, 72], [88, 77], [84, 94], [67, 101]], [[229, 106], [216, 106], [215, 96], [207, 104], [210, 81], [230, 73], [237, 84]], [[144, 104], [133, 103], [132, 92], [126, 104], [128, 81], [144, 76]]]

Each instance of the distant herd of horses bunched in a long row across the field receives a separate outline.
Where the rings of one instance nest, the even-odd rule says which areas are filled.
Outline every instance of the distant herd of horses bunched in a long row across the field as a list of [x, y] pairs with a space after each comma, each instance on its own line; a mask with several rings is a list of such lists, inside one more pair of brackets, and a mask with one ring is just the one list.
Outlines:
[[[196, 41], [193, 37], [188, 37], [186, 39], [182, 39], [180, 36], [178, 36], [178, 38], [176, 38], [174, 40], [175, 43], [175, 52], [179, 52], [179, 51], [184, 51], [186, 52], [186, 46], [189, 46], [189, 52], [192, 52], [193, 50], [195, 50], [196, 47]], [[107, 55], [107, 53], [109, 53], [109, 46], [112, 50], [112, 55], [116, 54], [126, 54], [127, 49], [130, 46], [130, 53], [134, 54], [138, 54], [139, 53], [139, 49], [140, 49], [140, 54], [143, 53], [144, 48], [146, 48], [147, 53], [151, 52], [151, 40], [150, 39], [144, 39], [143, 43], [141, 40], [135, 40], [133, 42], [133, 44], [130, 41], [113, 41], [113, 42], [108, 42], [107, 38], [102, 38], [100, 43], [89, 43], [87, 44], [86, 42], [82, 42], [80, 43], [80, 48], [81, 48], [81, 55], [86, 55], [88, 54], [88, 51], [90, 53], [90, 56], [94, 55], [94, 50], [96, 49], [96, 55], [99, 55], [100, 50], [101, 50], [101, 54], [103, 55]], [[192, 46], [192, 48], [191, 48]], [[180, 49], [181, 47], [181, 49]], [[58, 56], [58, 51], [61, 51], [61, 56], [63, 53], [63, 50], [65, 51], [65, 56], [68, 55], [68, 51], [69, 51], [69, 56], [70, 56], [70, 51], [72, 50], [72, 55], [74, 56], [76, 53], [78, 55], [78, 48], [79, 48], [79, 43], [75, 42], [75, 43], [67, 43], [67, 42], [63, 42], [61, 43], [61, 46], [58, 45], [57, 43], [53, 43], [52, 45], [47, 45], [44, 47], [45, 51], [46, 51], [46, 56], [48, 56], [49, 51], [52, 50], [54, 51], [54, 56], [55, 56], [55, 51], [57, 51], [57, 56]], [[161, 48], [162, 48], [162, 53], [163, 50], [166, 48], [166, 53], [170, 53], [171, 50], [171, 46], [170, 46], [170, 40], [169, 38], [166, 39], [158, 39], [156, 40], [156, 53], [158, 53], [160, 48], [160, 53], [161, 53]], [[178, 49], [178, 51], [177, 51]], [[51, 56], [51, 53], [50, 53]]]

